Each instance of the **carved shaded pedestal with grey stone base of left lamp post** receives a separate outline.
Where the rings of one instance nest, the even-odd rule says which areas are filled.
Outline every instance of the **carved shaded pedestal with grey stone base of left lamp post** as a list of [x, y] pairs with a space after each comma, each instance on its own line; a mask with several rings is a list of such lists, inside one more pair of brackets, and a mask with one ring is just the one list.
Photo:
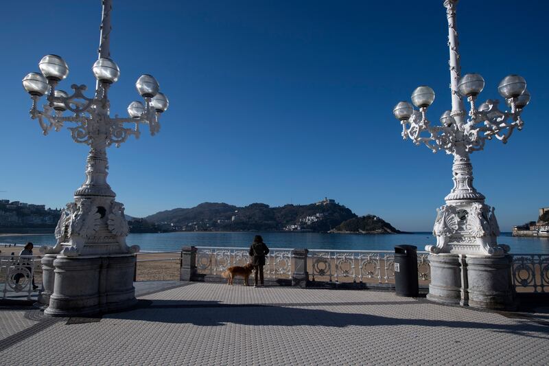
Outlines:
[[39, 303], [45, 314], [74, 317], [108, 312], [137, 302], [133, 275], [139, 247], [126, 245], [124, 205], [106, 182], [106, 152], [92, 144], [86, 181], [75, 192], [56, 227], [57, 244], [47, 253], [44, 290]]

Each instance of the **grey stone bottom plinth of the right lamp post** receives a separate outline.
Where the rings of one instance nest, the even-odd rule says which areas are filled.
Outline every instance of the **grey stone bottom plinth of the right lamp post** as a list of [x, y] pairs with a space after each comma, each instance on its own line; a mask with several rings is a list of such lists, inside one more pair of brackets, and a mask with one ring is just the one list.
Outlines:
[[430, 254], [429, 262], [430, 301], [491, 310], [516, 308], [511, 255], [441, 253]]

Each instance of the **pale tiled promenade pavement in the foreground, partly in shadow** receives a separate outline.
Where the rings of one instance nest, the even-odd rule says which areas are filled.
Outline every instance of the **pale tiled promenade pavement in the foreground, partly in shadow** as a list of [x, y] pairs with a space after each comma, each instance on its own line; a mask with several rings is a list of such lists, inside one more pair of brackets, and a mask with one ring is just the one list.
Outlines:
[[485, 312], [371, 290], [164, 286], [141, 287], [137, 308], [97, 318], [0, 306], [0, 365], [549, 361], [547, 314]]

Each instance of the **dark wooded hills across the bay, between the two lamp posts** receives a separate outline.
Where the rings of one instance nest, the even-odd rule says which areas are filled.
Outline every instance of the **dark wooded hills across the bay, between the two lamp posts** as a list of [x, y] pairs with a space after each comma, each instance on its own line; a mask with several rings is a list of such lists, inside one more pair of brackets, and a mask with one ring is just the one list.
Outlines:
[[[154, 225], [159, 231], [315, 231], [349, 233], [400, 233], [388, 222], [374, 215], [359, 218], [333, 199], [309, 205], [270, 207], [252, 203], [237, 207], [227, 203], [201, 203], [192, 208], [161, 211], [134, 220], [130, 230], [137, 232], [143, 225]], [[143, 231], [141, 231], [143, 232]]]

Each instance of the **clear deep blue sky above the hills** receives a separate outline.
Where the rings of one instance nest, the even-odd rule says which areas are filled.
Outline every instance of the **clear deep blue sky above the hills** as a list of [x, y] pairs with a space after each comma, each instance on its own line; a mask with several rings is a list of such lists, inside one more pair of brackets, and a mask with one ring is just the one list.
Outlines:
[[[420, 84], [450, 108], [443, 1], [114, 1], [111, 56], [121, 69], [112, 114], [151, 73], [170, 98], [161, 133], [110, 148], [108, 181], [126, 213], [226, 202], [277, 206], [335, 198], [402, 230], [430, 230], [452, 188], [452, 157], [402, 141], [392, 115]], [[36, 12], [29, 12], [35, 9]], [[474, 184], [511, 230], [548, 206], [547, 1], [458, 3], [463, 73], [500, 98], [509, 73], [528, 82], [526, 126], [475, 152]], [[0, 41], [5, 72], [0, 197], [49, 207], [72, 200], [88, 147], [41, 134], [21, 87], [45, 54], [70, 84], [93, 87], [100, 1], [10, 1]]]

